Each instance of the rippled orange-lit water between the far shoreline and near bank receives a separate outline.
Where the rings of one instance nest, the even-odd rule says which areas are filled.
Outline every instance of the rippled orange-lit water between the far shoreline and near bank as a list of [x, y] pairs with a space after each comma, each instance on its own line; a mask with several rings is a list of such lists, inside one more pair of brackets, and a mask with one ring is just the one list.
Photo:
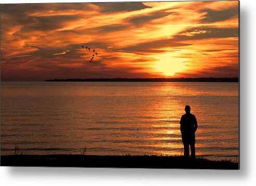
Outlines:
[[1, 154], [182, 154], [184, 106], [196, 155], [238, 160], [238, 83], [2, 82]]

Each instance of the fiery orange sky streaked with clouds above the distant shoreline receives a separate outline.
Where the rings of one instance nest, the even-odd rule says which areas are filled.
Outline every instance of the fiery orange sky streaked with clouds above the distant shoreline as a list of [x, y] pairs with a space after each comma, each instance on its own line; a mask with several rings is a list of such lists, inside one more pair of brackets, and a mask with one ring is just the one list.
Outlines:
[[238, 1], [0, 8], [1, 81], [238, 77]]

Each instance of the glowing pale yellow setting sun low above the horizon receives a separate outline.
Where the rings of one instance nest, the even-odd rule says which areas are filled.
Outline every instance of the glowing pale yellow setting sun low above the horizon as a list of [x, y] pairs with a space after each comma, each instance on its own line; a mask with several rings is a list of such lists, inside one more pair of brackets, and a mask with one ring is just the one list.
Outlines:
[[158, 60], [154, 64], [157, 72], [161, 72], [167, 76], [173, 76], [177, 72], [182, 72], [186, 66], [184, 61], [186, 58], [173, 57], [171, 54], [163, 54], [156, 57]]

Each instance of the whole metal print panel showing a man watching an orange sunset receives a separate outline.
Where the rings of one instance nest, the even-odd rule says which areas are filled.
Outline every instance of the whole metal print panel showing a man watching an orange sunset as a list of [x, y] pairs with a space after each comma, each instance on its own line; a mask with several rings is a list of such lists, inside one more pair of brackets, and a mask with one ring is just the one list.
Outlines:
[[239, 168], [239, 2], [1, 5], [1, 165]]

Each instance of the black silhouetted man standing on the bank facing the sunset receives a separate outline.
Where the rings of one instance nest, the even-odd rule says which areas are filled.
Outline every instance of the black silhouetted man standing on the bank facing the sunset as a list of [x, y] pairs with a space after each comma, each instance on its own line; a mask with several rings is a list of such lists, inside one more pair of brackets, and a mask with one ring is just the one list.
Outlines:
[[190, 157], [191, 148], [191, 158], [195, 159], [195, 132], [197, 129], [196, 117], [190, 113], [190, 106], [185, 106], [186, 114], [181, 116], [180, 120], [180, 130], [182, 136], [182, 142], [184, 145], [184, 157]]

